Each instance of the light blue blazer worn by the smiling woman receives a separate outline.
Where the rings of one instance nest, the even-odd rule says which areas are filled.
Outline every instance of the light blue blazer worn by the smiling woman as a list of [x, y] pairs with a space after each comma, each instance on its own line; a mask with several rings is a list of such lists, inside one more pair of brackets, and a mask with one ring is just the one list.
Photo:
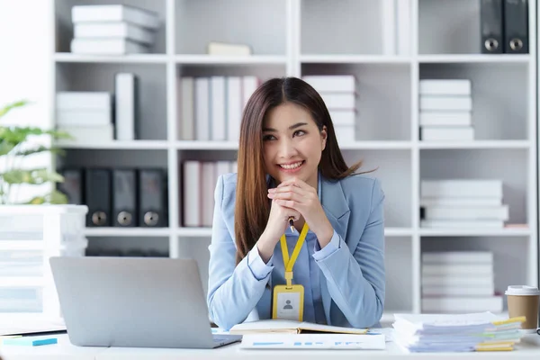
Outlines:
[[[236, 174], [221, 175], [218, 180], [209, 247], [207, 303], [211, 320], [223, 329], [272, 317], [272, 275], [258, 280], [247, 265], [248, 257], [236, 266], [236, 184]], [[339, 181], [320, 176], [319, 195], [339, 238], [338, 249], [317, 262], [326, 323], [376, 326], [383, 315], [385, 292], [381, 184], [368, 175]]]

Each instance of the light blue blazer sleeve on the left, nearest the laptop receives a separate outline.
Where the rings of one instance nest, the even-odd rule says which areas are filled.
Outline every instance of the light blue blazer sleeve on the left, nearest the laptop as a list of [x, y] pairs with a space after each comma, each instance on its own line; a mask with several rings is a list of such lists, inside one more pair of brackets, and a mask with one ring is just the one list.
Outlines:
[[[223, 175], [220, 175], [214, 193], [206, 301], [211, 320], [220, 328], [229, 330], [246, 320], [247, 315], [257, 306], [271, 272], [260, 280], [257, 279], [247, 266], [248, 257], [244, 257], [238, 266], [235, 266], [236, 246], [223, 219], [223, 189]], [[257, 247], [253, 247], [251, 251], [257, 251]]]

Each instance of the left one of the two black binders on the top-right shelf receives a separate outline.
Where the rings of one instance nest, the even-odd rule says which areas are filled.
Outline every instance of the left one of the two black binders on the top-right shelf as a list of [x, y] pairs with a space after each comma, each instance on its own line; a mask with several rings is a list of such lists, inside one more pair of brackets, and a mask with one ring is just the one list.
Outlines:
[[503, 0], [481, 0], [482, 54], [501, 54], [503, 52], [502, 2]]

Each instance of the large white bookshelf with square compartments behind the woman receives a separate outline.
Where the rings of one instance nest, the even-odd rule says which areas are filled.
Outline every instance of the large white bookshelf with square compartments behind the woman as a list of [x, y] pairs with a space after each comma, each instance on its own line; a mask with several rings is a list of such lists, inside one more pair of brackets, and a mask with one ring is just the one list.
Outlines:
[[[538, 284], [536, 2], [529, 2], [530, 54], [480, 53], [479, 2], [410, 0], [410, 31], [400, 34], [409, 34], [410, 47], [388, 55], [382, 48], [381, 6], [373, 0], [103, 0], [146, 7], [163, 21], [152, 53], [128, 56], [69, 53], [70, 8], [92, 2], [53, 3], [54, 92], [112, 91], [112, 74], [121, 69], [139, 76], [143, 109], [141, 140], [65, 145], [66, 163], [168, 170], [167, 228], [86, 229], [90, 247], [151, 247], [169, 257], [194, 257], [206, 286], [211, 229], [182, 226], [180, 164], [185, 159], [233, 160], [238, 143], [178, 138], [177, 78], [354, 74], [362, 117], [356, 141], [341, 148], [347, 161], [362, 158], [365, 168], [378, 167], [374, 175], [386, 193], [383, 320], [392, 321], [393, 312], [420, 311], [423, 251], [491, 250], [496, 290]], [[248, 43], [254, 55], [207, 56], [210, 40]], [[419, 79], [460, 76], [473, 81], [477, 139], [419, 140]], [[420, 180], [455, 176], [502, 179], [509, 222], [527, 228], [420, 229]]]

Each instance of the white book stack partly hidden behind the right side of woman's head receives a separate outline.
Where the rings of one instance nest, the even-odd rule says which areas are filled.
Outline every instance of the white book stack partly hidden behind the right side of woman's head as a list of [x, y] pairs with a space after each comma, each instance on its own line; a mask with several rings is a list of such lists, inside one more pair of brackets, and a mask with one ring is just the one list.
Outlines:
[[320, 94], [330, 112], [339, 144], [356, 140], [356, 77], [311, 75], [302, 79]]

